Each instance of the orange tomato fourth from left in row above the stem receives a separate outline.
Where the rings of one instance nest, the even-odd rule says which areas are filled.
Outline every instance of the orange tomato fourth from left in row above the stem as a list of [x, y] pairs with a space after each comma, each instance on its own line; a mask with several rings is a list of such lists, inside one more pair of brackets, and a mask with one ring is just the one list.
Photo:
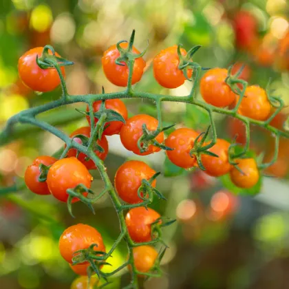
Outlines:
[[206, 103], [215, 107], [227, 107], [233, 103], [236, 94], [226, 84], [227, 76], [228, 70], [225, 68], [210, 69], [204, 74], [200, 82], [200, 91]]

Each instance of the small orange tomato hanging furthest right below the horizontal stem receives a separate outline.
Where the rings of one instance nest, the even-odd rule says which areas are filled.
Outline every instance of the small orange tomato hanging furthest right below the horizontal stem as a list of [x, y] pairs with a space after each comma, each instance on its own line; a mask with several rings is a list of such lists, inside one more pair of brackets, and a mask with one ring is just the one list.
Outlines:
[[248, 189], [255, 186], [259, 180], [259, 171], [255, 160], [253, 158], [240, 158], [236, 162], [243, 173], [233, 167], [230, 171], [231, 181], [239, 188]]

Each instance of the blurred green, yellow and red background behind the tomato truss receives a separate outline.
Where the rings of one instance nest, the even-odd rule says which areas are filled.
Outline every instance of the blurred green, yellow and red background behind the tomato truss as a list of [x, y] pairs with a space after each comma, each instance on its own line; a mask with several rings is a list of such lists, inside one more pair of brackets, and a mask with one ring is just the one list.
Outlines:
[[[136, 89], [184, 96], [191, 83], [164, 89], [153, 79], [151, 61], [163, 48], [182, 43], [186, 50], [200, 44], [194, 60], [204, 67], [228, 67], [250, 84], [266, 87], [271, 78], [275, 94], [289, 103], [289, 5], [285, 0], [2, 0], [0, 3], [0, 127], [17, 112], [58, 98], [61, 89], [47, 94], [30, 91], [19, 81], [17, 61], [32, 47], [51, 44], [61, 56], [74, 61], [67, 67], [70, 94], [114, 92], [101, 68], [101, 56], [109, 45], [129, 39], [136, 29], [135, 45], [143, 50], [147, 72]], [[156, 116], [153, 103], [126, 100], [129, 113]], [[65, 133], [87, 125], [74, 108], [62, 107], [43, 114], [43, 120]], [[162, 105], [164, 122], [204, 131], [208, 116], [182, 103]], [[288, 110], [272, 125], [282, 129]], [[245, 142], [244, 126], [215, 115], [218, 136]], [[272, 136], [251, 127], [251, 149], [272, 158]], [[177, 218], [164, 228], [169, 250], [163, 259], [165, 274], [141, 288], [193, 289], [285, 289], [289, 270], [288, 140], [281, 139], [277, 162], [265, 172], [257, 191], [236, 191], [227, 178], [218, 180], [202, 171], [184, 171], [166, 159], [163, 152], [134, 156], [120, 145], [118, 136], [108, 137], [105, 161], [111, 180], [127, 159], [142, 159], [162, 171], [158, 189], [168, 201], [155, 200], [151, 207], [162, 215]], [[23, 186], [25, 168], [36, 156], [52, 155], [63, 143], [26, 125], [17, 127], [11, 142], [0, 148], [0, 185]], [[93, 173], [92, 189], [102, 182]], [[58, 238], [72, 224], [95, 226], [109, 249], [119, 226], [108, 198], [95, 204], [96, 215], [74, 204], [72, 219], [65, 204], [52, 196], [34, 195], [23, 189], [0, 195], [0, 288], [70, 288], [76, 275], [58, 252]], [[112, 268], [127, 256], [120, 244]], [[104, 269], [111, 270], [111, 268]], [[107, 288], [122, 288], [129, 275], [118, 275]], [[141, 281], [140, 281], [141, 283]]]

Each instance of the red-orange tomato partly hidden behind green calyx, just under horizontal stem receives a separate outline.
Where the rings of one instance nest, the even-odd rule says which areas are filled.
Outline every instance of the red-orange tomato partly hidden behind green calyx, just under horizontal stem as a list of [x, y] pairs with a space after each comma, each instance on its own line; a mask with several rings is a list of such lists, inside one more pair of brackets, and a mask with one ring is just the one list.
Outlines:
[[[94, 112], [98, 111], [100, 109], [100, 105], [101, 105], [102, 101], [95, 101], [93, 104], [94, 107]], [[127, 120], [127, 107], [125, 106], [125, 103], [122, 102], [122, 100], [120, 99], [107, 99], [105, 100], [105, 108], [107, 109], [112, 109], [116, 112], [118, 112], [118, 114], [121, 114], [121, 116], [123, 118], [125, 118], [125, 120]], [[87, 111], [89, 111], [89, 108], [87, 106]], [[90, 118], [89, 116], [86, 117], [87, 121], [89, 122], [90, 125]], [[98, 121], [97, 118], [95, 119], [95, 123]], [[109, 125], [109, 127], [107, 127], [103, 133], [106, 136], [112, 136], [113, 134], [118, 134], [120, 133], [120, 129], [122, 128], [123, 122], [121, 121], [111, 121], [111, 122], [107, 122], [105, 123], [105, 125]]]

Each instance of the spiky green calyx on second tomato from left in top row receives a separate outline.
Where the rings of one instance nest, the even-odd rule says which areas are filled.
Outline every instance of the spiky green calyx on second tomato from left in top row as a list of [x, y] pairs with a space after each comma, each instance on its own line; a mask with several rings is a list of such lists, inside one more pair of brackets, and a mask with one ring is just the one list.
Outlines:
[[135, 34], [136, 34], [136, 30], [133, 29], [133, 32], [131, 33], [131, 37], [129, 39], [129, 45], [127, 46], [127, 48], [122, 48], [120, 46], [121, 43], [127, 43], [127, 41], [125, 41], [125, 40], [122, 40], [122, 41], [119, 41], [118, 43], [116, 43], [116, 48], [120, 52], [120, 56], [116, 59], [117, 65], [125, 66], [126, 64], [128, 64], [128, 62], [130, 60], [140, 58], [140, 57], [144, 56], [145, 52], [147, 52], [148, 45], [144, 49], [144, 51], [141, 52], [140, 54], [133, 53], [132, 50], [133, 50], [133, 41], [134, 41]]

